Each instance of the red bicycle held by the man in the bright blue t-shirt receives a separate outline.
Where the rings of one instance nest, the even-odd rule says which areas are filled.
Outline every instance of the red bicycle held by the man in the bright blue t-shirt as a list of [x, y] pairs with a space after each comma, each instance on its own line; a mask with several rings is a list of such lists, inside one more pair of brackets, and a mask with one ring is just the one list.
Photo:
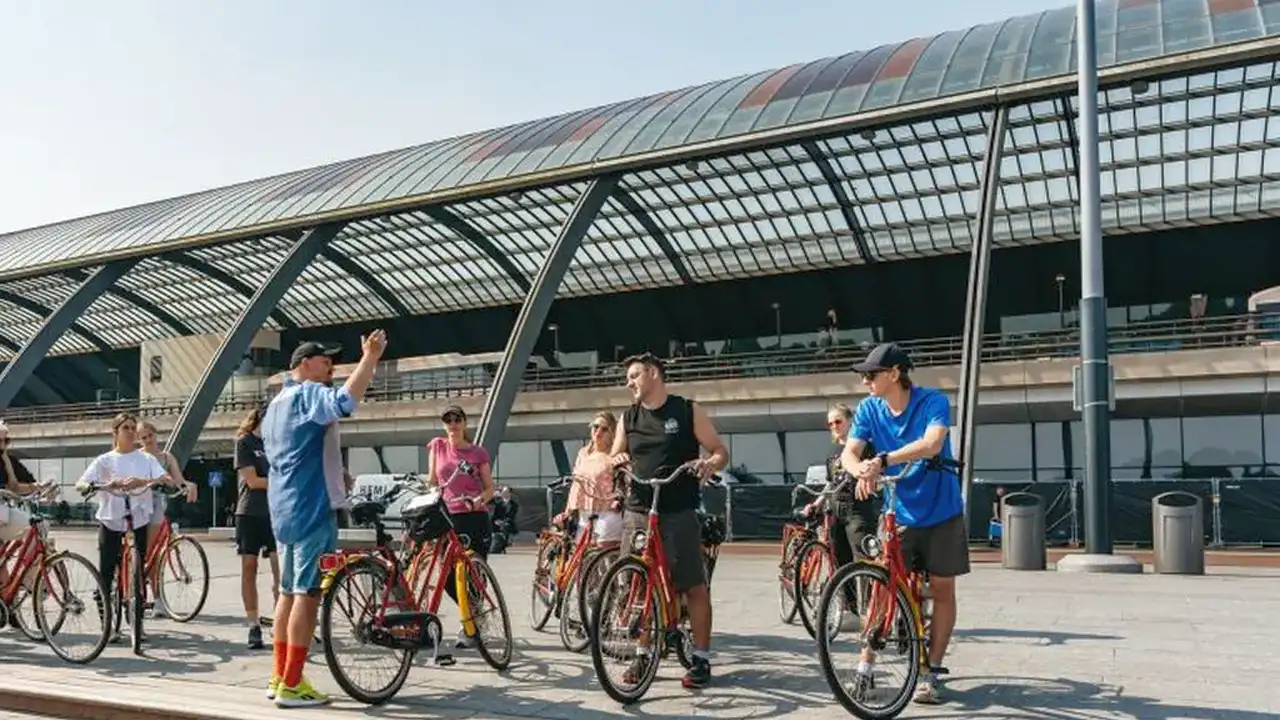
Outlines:
[[[884, 515], [878, 536], [868, 536], [861, 548], [865, 557], [874, 560], [860, 560], [837, 570], [818, 609], [818, 660], [823, 675], [840, 703], [864, 720], [897, 717], [910, 702], [920, 673], [929, 669], [929, 577], [923, 570], [909, 569], [902, 557], [902, 528], [893, 511], [897, 480], [923, 462], [943, 466], [942, 461], [915, 461], [901, 473], [877, 480], [878, 488], [888, 489]], [[850, 602], [850, 598], [855, 600]], [[858, 642], [861, 646], [859, 661], [865, 662], [896, 651], [905, 661], [904, 676], [892, 687], [887, 685], [883, 662], [870, 673], [855, 673], [852, 679], [837, 676], [832, 660], [837, 639]]]

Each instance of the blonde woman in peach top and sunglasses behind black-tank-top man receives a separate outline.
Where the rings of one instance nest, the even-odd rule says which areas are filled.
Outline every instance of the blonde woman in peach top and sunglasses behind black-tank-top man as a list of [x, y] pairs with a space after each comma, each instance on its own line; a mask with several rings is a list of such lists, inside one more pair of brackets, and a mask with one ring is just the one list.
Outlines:
[[613, 413], [596, 413], [591, 419], [591, 441], [577, 454], [564, 511], [556, 516], [556, 524], [562, 525], [575, 512], [580, 521], [595, 515], [595, 542], [604, 547], [617, 547], [622, 541], [622, 512], [613, 492], [609, 456], [617, 425]]

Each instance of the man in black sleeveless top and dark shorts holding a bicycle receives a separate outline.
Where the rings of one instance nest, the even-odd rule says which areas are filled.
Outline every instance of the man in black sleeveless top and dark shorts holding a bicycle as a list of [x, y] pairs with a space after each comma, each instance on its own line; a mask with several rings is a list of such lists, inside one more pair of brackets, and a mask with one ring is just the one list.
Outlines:
[[[671, 582], [685, 594], [689, 624], [694, 632], [692, 667], [684, 684], [686, 688], [701, 688], [712, 676], [712, 598], [703, 565], [698, 506], [703, 480], [728, 465], [728, 448], [701, 406], [667, 392], [662, 360], [646, 352], [627, 357], [622, 365], [635, 402], [622, 414], [613, 436], [614, 465], [630, 462], [636, 477], [649, 479], [666, 477], [678, 465], [698, 460], [703, 450], [708, 452], [696, 475], [676, 478], [662, 488], [658, 497], [658, 529], [671, 564]], [[653, 488], [640, 486], [627, 489], [625, 541], [645, 527], [652, 503]], [[637, 662], [643, 662], [644, 657]]]

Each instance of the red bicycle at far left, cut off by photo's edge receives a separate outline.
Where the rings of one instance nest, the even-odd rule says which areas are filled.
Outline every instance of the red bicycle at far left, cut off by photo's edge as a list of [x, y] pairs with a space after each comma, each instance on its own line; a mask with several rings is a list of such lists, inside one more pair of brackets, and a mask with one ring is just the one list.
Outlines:
[[[0, 628], [9, 624], [13, 614], [28, 638], [49, 643], [68, 662], [87, 664], [102, 653], [110, 639], [111, 625], [102, 605], [106, 591], [92, 562], [74, 552], [52, 550], [49, 523], [37, 501], [56, 492], [55, 486], [40, 486], [38, 491], [19, 496], [0, 488], [0, 502], [31, 510], [27, 532], [0, 551], [0, 562], [9, 571], [9, 579], [0, 587]], [[19, 612], [27, 600], [32, 620]], [[99, 628], [79, 629], [81, 621], [96, 621]]]

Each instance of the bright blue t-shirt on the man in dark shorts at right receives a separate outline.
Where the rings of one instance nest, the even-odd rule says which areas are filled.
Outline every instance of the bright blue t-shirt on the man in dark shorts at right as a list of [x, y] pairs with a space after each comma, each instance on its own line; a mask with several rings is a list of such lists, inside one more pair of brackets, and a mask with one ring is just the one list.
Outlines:
[[[850, 436], [870, 442], [881, 452], [892, 452], [924, 437], [932, 425], [951, 428], [951, 402], [947, 396], [931, 388], [913, 387], [906, 410], [893, 415], [888, 404], [879, 397], [868, 397], [854, 413]], [[951, 443], [942, 443], [940, 459], [951, 460]], [[891, 465], [887, 475], [896, 475], [901, 465]], [[947, 469], [931, 469], [915, 462], [911, 471], [897, 483], [897, 502], [893, 505], [900, 525], [929, 528], [964, 514], [960, 497], [960, 478]]]

